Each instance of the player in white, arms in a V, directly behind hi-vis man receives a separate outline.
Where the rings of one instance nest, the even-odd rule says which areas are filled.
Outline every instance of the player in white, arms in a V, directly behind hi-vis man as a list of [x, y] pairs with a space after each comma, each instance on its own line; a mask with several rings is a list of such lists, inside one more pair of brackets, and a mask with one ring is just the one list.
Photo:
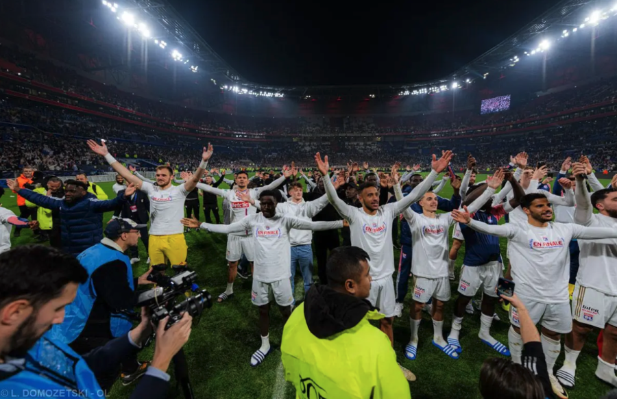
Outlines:
[[392, 245], [393, 220], [396, 216], [407, 209], [411, 204], [418, 201], [425, 192], [431, 188], [433, 181], [439, 173], [446, 169], [452, 159], [452, 151], [444, 151], [440, 159], [433, 155], [433, 170], [420, 185], [396, 203], [379, 206], [379, 192], [374, 183], [363, 183], [360, 187], [361, 208], [347, 205], [337, 196], [337, 192], [330, 181], [328, 170], [328, 156], [324, 157], [317, 153], [315, 162], [319, 172], [324, 176], [324, 188], [328, 200], [339, 214], [348, 220], [352, 246], [358, 246], [365, 250], [369, 256], [369, 266], [372, 276], [371, 294], [369, 300], [374, 307], [378, 307], [386, 317], [380, 320], [380, 329], [386, 333], [394, 345], [394, 332], [392, 322], [396, 314], [394, 281], [394, 249]]

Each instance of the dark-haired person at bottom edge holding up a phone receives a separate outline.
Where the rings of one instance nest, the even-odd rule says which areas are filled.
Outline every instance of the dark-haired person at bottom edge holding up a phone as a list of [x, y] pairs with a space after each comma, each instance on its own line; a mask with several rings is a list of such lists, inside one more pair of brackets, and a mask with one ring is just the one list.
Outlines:
[[484, 399], [555, 398], [540, 334], [537, 333], [529, 311], [516, 294], [501, 297], [509, 300], [518, 311], [523, 342], [522, 365], [503, 357], [485, 360], [480, 370], [480, 394]]

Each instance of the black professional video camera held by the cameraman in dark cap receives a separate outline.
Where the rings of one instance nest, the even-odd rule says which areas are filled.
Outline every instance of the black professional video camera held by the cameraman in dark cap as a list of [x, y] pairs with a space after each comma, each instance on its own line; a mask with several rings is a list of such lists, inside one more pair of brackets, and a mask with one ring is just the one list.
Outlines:
[[[185, 265], [173, 265], [171, 269], [175, 273], [167, 276], [165, 270], [167, 265], [160, 264], [152, 266], [152, 272], [148, 275], [148, 280], [158, 287], [142, 292], [138, 298], [138, 307], [149, 307], [151, 310], [150, 318], [155, 324], [169, 316], [169, 321], [165, 329], [176, 324], [182, 316], [180, 313], [186, 311], [193, 318], [200, 316], [204, 307], [212, 307], [212, 296], [206, 289], [199, 290], [197, 273]], [[189, 292], [195, 293], [189, 296]], [[185, 298], [176, 303], [176, 298]]]

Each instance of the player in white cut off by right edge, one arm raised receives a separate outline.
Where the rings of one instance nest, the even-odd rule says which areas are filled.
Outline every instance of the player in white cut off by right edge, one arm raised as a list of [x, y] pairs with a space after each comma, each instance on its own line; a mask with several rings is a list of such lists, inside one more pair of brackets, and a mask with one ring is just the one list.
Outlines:
[[[573, 164], [572, 175], [577, 179], [574, 222], [617, 229], [617, 190], [604, 188], [590, 196], [583, 180], [585, 165]], [[598, 214], [594, 214], [594, 209]], [[581, 266], [572, 295], [572, 333], [566, 335], [566, 359], [557, 370], [557, 378], [564, 387], [574, 387], [577, 358], [585, 339], [596, 327], [604, 329], [596, 376], [617, 387], [617, 240], [581, 240], [579, 246]]]

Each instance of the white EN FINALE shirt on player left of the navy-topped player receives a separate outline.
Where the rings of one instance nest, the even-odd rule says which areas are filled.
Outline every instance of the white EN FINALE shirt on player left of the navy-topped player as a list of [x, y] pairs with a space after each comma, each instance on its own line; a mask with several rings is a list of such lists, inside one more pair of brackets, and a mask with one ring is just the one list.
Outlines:
[[405, 211], [413, 242], [411, 272], [426, 279], [448, 276], [448, 232], [455, 224], [450, 213], [428, 218], [414, 211]]

